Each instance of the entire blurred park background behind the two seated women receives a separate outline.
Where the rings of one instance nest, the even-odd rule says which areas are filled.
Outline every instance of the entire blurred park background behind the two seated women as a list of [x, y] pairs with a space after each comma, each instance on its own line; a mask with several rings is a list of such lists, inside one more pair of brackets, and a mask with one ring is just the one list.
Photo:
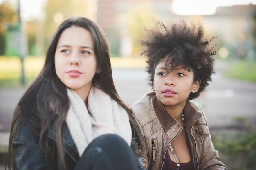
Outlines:
[[0, 170], [15, 105], [40, 72], [52, 34], [72, 16], [103, 28], [117, 92], [129, 105], [151, 91], [139, 55], [144, 26], [184, 17], [218, 36], [216, 74], [196, 101], [222, 161], [256, 170], [256, 0], [0, 0]]

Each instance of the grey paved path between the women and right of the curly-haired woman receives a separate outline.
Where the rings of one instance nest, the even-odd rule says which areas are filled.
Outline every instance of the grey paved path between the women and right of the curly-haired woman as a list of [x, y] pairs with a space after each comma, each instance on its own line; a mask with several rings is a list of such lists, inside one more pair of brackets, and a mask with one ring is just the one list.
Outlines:
[[[216, 74], [196, 102], [206, 113], [209, 128], [244, 126], [256, 123], [256, 83], [222, 76], [226, 62], [216, 63]], [[127, 76], [126, 76], [127, 75]], [[133, 104], [151, 88], [142, 69], [113, 69], [113, 77], [121, 98]], [[245, 120], [239, 122], [237, 120]]]

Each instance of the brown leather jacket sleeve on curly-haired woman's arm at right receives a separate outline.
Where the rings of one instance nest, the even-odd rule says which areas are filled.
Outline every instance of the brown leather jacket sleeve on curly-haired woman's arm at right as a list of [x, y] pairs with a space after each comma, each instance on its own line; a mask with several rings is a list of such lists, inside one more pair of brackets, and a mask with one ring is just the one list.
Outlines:
[[[206, 121], [204, 111], [201, 107], [204, 120]], [[211, 135], [209, 131], [209, 127], [207, 125], [202, 125], [199, 134], [201, 133], [202, 138], [204, 139], [204, 146], [202, 149], [202, 153], [200, 155], [200, 170], [227, 170], [227, 166], [221, 162], [220, 157], [218, 155], [218, 151], [215, 150]]]

